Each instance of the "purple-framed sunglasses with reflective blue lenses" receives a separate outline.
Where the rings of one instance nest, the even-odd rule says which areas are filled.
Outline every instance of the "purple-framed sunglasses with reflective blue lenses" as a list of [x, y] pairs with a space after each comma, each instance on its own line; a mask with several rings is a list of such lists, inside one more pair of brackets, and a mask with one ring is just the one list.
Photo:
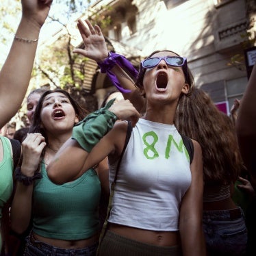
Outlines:
[[149, 59], [142, 60], [143, 68], [153, 68], [157, 66], [161, 60], [164, 60], [168, 66], [183, 66], [187, 59], [179, 56], [165, 56], [165, 57], [150, 57]]

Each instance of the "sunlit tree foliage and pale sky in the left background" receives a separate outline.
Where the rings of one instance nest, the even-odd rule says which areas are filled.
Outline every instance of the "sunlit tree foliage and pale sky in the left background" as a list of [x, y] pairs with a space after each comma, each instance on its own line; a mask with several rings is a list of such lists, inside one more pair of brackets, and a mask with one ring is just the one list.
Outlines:
[[[72, 23], [76, 18], [84, 14], [88, 10], [88, 6], [93, 1], [81, 0], [54, 0], [47, 18], [46, 25], [53, 26], [53, 23], [58, 23], [64, 31], [56, 38], [55, 42], [44, 47], [40, 57], [36, 57], [34, 70], [32, 72], [31, 86], [33, 90], [37, 86], [37, 81], [40, 81], [40, 86], [50, 85], [51, 88], [64, 88], [70, 92], [82, 106], [90, 111], [97, 109], [97, 101], [95, 97], [83, 90], [82, 84], [84, 81], [84, 67], [88, 59], [81, 55], [73, 54], [75, 46], [71, 44], [73, 36], [68, 30], [68, 23]], [[65, 4], [64, 4], [65, 3]], [[21, 0], [8, 0], [0, 2], [0, 44], [6, 47], [8, 53], [8, 44], [10, 46], [16, 27], [21, 18]], [[38, 51], [41, 51], [38, 48]], [[1, 56], [3, 57], [3, 56]], [[3, 64], [5, 57], [1, 60]], [[25, 105], [16, 115], [18, 120], [25, 120]], [[23, 124], [24, 125], [24, 124]], [[20, 125], [18, 125], [19, 127]]]

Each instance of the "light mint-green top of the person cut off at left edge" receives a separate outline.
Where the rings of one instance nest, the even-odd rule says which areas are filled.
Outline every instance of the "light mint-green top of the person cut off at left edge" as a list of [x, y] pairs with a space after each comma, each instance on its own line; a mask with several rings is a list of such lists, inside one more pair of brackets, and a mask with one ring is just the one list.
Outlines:
[[[3, 147], [3, 159], [0, 162], [0, 219], [2, 218], [2, 209], [3, 205], [10, 199], [13, 190], [12, 182], [12, 170], [13, 170], [13, 161], [12, 161], [12, 150], [10, 141], [8, 138], [0, 136]], [[1, 224], [1, 222], [0, 222]], [[0, 251], [2, 247], [1, 242], [1, 233], [0, 233]]]

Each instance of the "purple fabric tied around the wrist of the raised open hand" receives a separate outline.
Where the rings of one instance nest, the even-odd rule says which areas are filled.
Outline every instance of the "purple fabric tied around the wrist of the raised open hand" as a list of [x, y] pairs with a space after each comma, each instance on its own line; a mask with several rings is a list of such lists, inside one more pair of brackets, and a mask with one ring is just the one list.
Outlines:
[[114, 75], [114, 73], [110, 71], [116, 64], [118, 64], [118, 66], [120, 66], [121, 68], [127, 69], [134, 78], [137, 77], [138, 71], [136, 70], [136, 68], [133, 67], [131, 62], [129, 62], [129, 60], [127, 60], [127, 58], [123, 55], [111, 52], [109, 53], [109, 57], [105, 58], [103, 62], [98, 62], [98, 65], [101, 68], [101, 73], [107, 73], [107, 76], [110, 77], [110, 80], [112, 81], [114, 86], [118, 88], [120, 92], [131, 92], [131, 90], [124, 89], [120, 85], [116, 75]]

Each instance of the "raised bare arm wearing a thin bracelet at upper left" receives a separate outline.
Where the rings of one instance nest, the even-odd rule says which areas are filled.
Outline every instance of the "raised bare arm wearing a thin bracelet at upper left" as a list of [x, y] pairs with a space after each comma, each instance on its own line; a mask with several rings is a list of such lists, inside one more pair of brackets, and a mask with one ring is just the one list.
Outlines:
[[52, 0], [22, 0], [22, 18], [0, 71], [0, 127], [16, 114], [31, 78], [40, 29]]

